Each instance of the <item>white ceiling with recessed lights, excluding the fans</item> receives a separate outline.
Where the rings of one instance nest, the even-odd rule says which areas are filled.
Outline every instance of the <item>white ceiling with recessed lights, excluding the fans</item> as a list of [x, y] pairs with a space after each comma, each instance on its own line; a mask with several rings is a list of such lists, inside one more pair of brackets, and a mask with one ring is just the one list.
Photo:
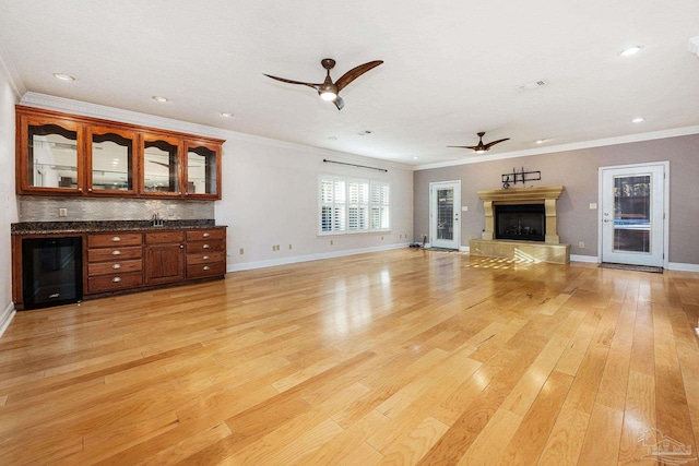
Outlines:
[[[0, 0], [0, 64], [19, 93], [410, 165], [696, 127], [697, 36], [696, 0]], [[334, 80], [384, 63], [342, 91], [342, 111], [263, 76], [322, 82], [325, 57]], [[511, 140], [447, 147], [477, 131]]]

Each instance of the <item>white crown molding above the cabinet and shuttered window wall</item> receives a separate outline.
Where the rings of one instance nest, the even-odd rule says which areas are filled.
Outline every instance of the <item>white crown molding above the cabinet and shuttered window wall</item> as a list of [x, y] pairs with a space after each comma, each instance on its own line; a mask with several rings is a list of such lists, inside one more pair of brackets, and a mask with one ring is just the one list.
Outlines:
[[47, 94], [27, 92], [22, 96], [21, 105], [27, 107], [43, 108], [46, 110], [63, 111], [83, 117], [100, 118], [104, 120], [119, 121], [122, 123], [139, 124], [143, 127], [157, 128], [162, 130], [178, 131], [182, 133], [201, 134], [211, 138], [225, 139], [226, 141], [244, 141], [253, 144], [262, 144], [271, 147], [284, 148], [288, 151], [299, 151], [310, 155], [322, 157], [342, 158], [343, 162], [351, 163], [379, 163], [382, 168], [393, 168], [412, 171], [413, 167], [396, 162], [371, 158], [345, 152], [331, 151], [321, 147], [313, 147], [293, 142], [280, 141], [270, 138], [257, 136], [253, 134], [240, 133], [222, 128], [208, 127], [204, 124], [191, 123], [188, 121], [175, 120], [171, 118], [157, 117], [154, 115], [141, 113], [138, 111], [125, 110], [121, 108], [108, 107], [105, 105], [91, 104], [64, 97], [57, 97]]

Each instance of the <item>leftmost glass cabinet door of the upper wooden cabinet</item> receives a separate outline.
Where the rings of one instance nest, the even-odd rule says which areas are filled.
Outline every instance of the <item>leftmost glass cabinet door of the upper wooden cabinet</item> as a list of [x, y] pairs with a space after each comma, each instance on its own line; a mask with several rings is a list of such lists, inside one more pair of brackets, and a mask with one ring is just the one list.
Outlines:
[[[73, 121], [24, 117], [20, 160], [22, 191], [80, 193], [82, 127]], [[26, 145], [26, 146], [25, 146]]]

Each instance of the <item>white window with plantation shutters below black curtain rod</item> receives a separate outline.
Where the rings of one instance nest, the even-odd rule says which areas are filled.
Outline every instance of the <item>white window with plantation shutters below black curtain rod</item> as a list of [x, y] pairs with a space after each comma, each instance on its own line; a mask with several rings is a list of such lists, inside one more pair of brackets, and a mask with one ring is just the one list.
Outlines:
[[320, 235], [390, 229], [387, 182], [320, 176]]

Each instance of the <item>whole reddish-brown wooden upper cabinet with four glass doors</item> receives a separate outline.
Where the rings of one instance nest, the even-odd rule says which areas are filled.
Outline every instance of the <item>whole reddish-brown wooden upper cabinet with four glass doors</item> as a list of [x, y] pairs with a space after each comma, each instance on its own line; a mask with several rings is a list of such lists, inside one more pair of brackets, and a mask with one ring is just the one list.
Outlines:
[[17, 194], [221, 199], [223, 140], [16, 107]]

